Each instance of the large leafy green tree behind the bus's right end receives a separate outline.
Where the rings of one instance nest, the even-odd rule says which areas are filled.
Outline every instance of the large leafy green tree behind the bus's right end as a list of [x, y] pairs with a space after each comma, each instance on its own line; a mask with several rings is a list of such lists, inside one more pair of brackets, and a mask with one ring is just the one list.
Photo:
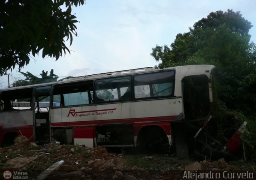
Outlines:
[[158, 68], [212, 64], [218, 70], [222, 106], [253, 114], [256, 108], [256, 46], [248, 34], [252, 25], [240, 12], [211, 12], [174, 42], [152, 48]]

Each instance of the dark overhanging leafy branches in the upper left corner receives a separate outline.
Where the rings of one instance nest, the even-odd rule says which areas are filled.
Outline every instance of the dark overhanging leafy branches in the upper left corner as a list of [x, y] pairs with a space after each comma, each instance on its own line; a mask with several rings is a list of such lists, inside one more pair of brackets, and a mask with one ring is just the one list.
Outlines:
[[[65, 40], [72, 44], [77, 36], [72, 6], [84, 0], [2, 0], [0, 1], [0, 76], [30, 62], [42, 50], [42, 57], [58, 58], [70, 53]], [[66, 7], [66, 8], [65, 8]]]

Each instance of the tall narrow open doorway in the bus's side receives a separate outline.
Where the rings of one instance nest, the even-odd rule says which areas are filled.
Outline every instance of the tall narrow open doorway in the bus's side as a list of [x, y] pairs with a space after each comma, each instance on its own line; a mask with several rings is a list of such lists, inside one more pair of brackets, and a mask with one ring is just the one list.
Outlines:
[[50, 142], [50, 90], [42, 86], [34, 90], [34, 140], [43, 145]]

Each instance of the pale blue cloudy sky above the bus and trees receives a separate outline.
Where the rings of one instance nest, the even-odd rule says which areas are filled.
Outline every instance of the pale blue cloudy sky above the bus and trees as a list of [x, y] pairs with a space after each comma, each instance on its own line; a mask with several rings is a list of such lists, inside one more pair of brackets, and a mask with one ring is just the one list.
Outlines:
[[[77, 37], [69, 46], [71, 51], [57, 61], [30, 59], [22, 72], [39, 76], [42, 70], [54, 69], [54, 74], [83, 76], [119, 70], [154, 67], [152, 48], [170, 46], [178, 33], [189, 31], [195, 22], [218, 10], [240, 11], [252, 23], [251, 41], [256, 43], [255, 0], [86, 0], [86, 4], [73, 7], [79, 23]], [[18, 69], [8, 71], [10, 85], [25, 79]], [[8, 87], [8, 76], [0, 77], [0, 88]]]

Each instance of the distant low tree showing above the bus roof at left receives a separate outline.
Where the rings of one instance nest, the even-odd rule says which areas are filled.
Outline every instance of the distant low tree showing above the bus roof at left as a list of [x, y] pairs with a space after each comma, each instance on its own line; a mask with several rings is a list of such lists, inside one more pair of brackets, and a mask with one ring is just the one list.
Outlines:
[[[48, 76], [48, 71], [45, 72], [44, 70], [42, 70], [42, 73], [40, 74], [42, 78], [38, 78], [30, 72], [26, 72], [26, 73], [21, 72], [21, 73], [26, 77], [26, 79], [18, 80], [16, 82], [16, 86], [26, 86], [26, 85], [40, 84], [40, 83], [46, 83], [46, 82], [56, 82], [57, 79], [59, 78], [59, 76], [53, 73], [53, 69], [50, 71], [49, 76]], [[15, 86], [15, 82], [13, 83], [12, 86]]]

